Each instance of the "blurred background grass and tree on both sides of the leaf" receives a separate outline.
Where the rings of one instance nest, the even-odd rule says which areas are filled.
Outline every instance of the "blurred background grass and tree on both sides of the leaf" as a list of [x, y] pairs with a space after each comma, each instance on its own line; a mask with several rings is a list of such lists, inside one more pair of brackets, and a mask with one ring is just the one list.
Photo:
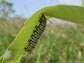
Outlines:
[[[26, 20], [20, 15], [11, 17], [12, 6], [0, 2], [0, 61]], [[84, 26], [48, 20], [37, 46], [31, 54], [24, 51], [21, 63], [84, 63]]]

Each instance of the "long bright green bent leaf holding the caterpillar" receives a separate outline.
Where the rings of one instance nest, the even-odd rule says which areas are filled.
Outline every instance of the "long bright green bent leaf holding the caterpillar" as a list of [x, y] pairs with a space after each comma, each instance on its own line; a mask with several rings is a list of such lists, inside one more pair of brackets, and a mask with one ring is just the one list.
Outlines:
[[41, 15], [44, 14], [46, 18], [59, 18], [75, 23], [84, 24], [84, 8], [79, 6], [56, 5], [49, 6], [37, 11], [24, 24], [15, 40], [9, 45], [5, 53], [10, 51], [10, 58], [5, 58], [4, 55], [2, 63], [19, 63], [24, 47], [28, 44], [28, 40], [33, 33], [35, 26], [38, 24]]

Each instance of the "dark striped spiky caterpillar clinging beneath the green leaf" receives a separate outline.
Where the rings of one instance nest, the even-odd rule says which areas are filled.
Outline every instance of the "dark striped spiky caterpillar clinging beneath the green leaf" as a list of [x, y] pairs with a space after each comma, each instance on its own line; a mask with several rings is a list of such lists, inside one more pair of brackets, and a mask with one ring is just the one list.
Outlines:
[[31, 52], [33, 48], [35, 48], [35, 45], [37, 44], [37, 41], [42, 35], [45, 28], [46, 28], [46, 18], [44, 14], [42, 14], [42, 16], [39, 19], [39, 25], [35, 26], [35, 29], [33, 30], [33, 34], [31, 35], [31, 38], [28, 40], [29, 44], [25, 48], [25, 51]]

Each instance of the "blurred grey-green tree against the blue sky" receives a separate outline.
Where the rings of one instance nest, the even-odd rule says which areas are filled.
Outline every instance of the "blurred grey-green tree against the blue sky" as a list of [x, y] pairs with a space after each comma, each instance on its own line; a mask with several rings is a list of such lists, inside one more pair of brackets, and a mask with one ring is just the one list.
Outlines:
[[7, 20], [15, 12], [13, 4], [7, 0], [0, 0], [0, 16]]

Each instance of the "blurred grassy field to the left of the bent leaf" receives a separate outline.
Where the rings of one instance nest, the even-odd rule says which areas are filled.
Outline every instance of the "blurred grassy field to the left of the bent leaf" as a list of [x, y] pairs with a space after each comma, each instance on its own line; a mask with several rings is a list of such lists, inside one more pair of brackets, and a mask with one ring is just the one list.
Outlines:
[[0, 21], [0, 56], [5, 52], [8, 45], [16, 37], [23, 26], [23, 21]]

